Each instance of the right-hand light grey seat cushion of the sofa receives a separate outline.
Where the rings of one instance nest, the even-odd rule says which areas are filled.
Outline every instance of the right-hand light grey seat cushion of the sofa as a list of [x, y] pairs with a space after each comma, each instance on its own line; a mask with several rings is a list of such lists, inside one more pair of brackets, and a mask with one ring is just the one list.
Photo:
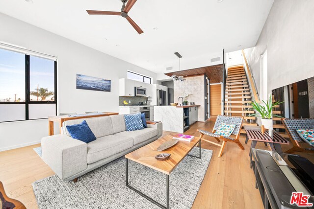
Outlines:
[[134, 145], [136, 145], [143, 141], [156, 137], [157, 134], [158, 131], [156, 128], [145, 128], [136, 131], [123, 131], [114, 135], [121, 137], [131, 137], [134, 140]]

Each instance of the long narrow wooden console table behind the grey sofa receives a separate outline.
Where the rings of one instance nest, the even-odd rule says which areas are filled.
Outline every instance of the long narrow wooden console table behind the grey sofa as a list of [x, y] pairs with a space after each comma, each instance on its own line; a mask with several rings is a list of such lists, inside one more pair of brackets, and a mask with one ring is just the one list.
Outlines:
[[97, 115], [89, 115], [89, 114], [81, 114], [76, 117], [70, 117], [70, 116], [50, 116], [48, 118], [49, 121], [49, 136], [52, 136], [53, 133], [53, 122], [59, 123], [59, 128], [61, 132], [62, 124], [66, 120], [75, 120], [75, 119], [82, 119], [82, 118], [89, 118], [89, 117], [102, 117], [102, 116], [112, 116], [112, 115], [118, 115], [119, 113], [110, 113], [110, 112], [104, 112], [99, 113]]

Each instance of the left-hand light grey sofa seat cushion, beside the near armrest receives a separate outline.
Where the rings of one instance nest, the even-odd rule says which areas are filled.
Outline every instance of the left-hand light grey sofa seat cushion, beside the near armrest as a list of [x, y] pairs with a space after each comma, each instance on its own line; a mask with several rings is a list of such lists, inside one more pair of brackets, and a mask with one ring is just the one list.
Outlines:
[[108, 135], [87, 144], [87, 163], [95, 163], [133, 146], [131, 137]]

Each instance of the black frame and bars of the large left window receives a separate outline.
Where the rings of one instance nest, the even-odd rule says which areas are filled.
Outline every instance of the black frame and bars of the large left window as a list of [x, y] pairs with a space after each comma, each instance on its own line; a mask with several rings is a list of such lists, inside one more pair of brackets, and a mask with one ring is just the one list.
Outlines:
[[[4, 50], [9, 50], [6, 48], [2, 48]], [[10, 51], [10, 50], [9, 50]], [[13, 50], [14, 51], [14, 50]], [[16, 53], [21, 53], [18, 51], [14, 51]], [[17, 122], [17, 121], [26, 121], [26, 120], [40, 120], [40, 119], [47, 119], [48, 117], [44, 118], [36, 118], [36, 119], [29, 119], [29, 104], [55, 104], [55, 115], [57, 115], [57, 61], [52, 60], [54, 62], [54, 101], [32, 101], [30, 100], [30, 55], [25, 54], [25, 102], [1, 102], [1, 104], [25, 104], [25, 120], [11, 120], [11, 121], [1, 121], [0, 123], [5, 122]], [[31, 55], [35, 56], [35, 55]], [[47, 59], [44, 57], [37, 56], [42, 59]]]

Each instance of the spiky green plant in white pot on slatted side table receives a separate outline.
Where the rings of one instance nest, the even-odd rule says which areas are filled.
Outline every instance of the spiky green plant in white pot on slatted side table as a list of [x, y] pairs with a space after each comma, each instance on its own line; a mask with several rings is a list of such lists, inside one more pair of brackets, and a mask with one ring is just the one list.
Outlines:
[[[262, 103], [264, 105], [262, 105]], [[266, 102], [262, 100], [261, 104], [257, 103], [256, 101], [253, 101], [252, 103], [250, 103], [250, 105], [252, 105], [252, 108], [250, 108], [249, 110], [255, 110], [257, 113], [250, 114], [249, 116], [260, 116], [262, 120], [262, 125], [266, 129], [272, 129], [272, 125], [273, 125], [272, 116], [282, 117], [282, 116], [272, 114], [273, 107], [281, 103], [284, 103], [284, 102], [278, 101], [278, 102], [273, 103], [272, 95], [270, 94], [269, 100], [266, 100]]]

